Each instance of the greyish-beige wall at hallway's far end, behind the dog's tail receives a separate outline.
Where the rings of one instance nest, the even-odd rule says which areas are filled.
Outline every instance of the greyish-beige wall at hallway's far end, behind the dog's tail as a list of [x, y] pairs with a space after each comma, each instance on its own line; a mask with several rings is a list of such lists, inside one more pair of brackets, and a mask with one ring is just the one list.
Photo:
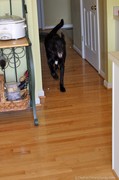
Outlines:
[[[43, 5], [43, 18], [44, 18], [44, 28], [50, 29], [55, 26], [60, 19], [64, 19], [65, 26], [69, 27], [71, 23], [71, 0], [37, 0]], [[39, 14], [40, 14], [40, 7]], [[40, 17], [40, 15], [39, 15]], [[40, 24], [40, 19], [39, 19]]]

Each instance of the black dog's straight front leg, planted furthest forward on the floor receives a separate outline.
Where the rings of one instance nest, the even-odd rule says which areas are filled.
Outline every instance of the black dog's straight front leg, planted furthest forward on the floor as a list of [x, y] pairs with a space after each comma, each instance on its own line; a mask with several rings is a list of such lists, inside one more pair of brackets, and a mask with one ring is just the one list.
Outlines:
[[60, 66], [60, 91], [61, 92], [66, 91], [66, 89], [64, 87], [64, 70], [65, 70], [65, 66], [64, 66], [64, 64], [62, 64]]

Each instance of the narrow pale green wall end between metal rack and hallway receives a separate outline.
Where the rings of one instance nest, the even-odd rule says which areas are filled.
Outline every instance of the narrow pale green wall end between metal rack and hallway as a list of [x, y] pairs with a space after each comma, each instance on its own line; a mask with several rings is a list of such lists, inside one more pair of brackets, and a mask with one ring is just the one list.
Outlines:
[[41, 52], [39, 43], [39, 28], [37, 14], [37, 0], [26, 0], [28, 6], [28, 27], [29, 35], [32, 41], [32, 51], [36, 78], [36, 99], [44, 95], [42, 87], [42, 69], [41, 69]]

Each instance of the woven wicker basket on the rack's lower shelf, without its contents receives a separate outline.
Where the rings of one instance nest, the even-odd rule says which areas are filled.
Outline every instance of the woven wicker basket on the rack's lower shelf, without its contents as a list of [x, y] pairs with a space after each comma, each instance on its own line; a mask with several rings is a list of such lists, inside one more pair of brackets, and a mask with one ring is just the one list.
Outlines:
[[4, 76], [0, 75], [0, 112], [25, 110], [29, 107], [30, 96], [28, 90], [22, 90], [23, 99], [7, 101], [4, 95]]

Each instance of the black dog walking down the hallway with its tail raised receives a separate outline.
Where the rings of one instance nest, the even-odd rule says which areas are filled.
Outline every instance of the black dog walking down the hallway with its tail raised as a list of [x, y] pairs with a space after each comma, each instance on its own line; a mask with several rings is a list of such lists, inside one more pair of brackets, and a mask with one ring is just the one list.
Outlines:
[[64, 87], [64, 69], [66, 58], [66, 42], [64, 34], [57, 34], [57, 31], [64, 25], [64, 20], [61, 19], [60, 23], [48, 33], [45, 38], [45, 49], [47, 55], [47, 61], [50, 68], [51, 75], [54, 79], [58, 79], [56, 73], [57, 69], [60, 69], [60, 91], [65, 92]]

